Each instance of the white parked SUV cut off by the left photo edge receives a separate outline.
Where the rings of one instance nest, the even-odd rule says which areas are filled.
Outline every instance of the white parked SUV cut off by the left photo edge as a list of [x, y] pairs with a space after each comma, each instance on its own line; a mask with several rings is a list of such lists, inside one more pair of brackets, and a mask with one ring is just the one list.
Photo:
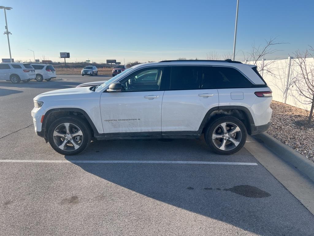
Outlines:
[[35, 69], [29, 63], [0, 63], [0, 80], [18, 84], [35, 79]]

